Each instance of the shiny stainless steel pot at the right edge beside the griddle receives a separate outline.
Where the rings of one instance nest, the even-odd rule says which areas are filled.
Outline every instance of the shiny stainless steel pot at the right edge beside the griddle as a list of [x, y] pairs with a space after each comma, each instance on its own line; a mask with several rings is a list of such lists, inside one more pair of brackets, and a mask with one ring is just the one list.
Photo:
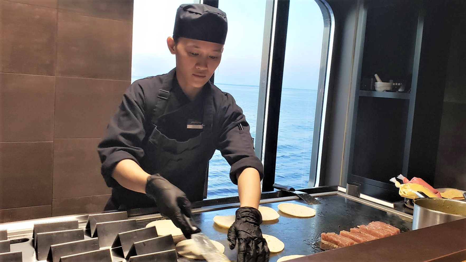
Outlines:
[[416, 195], [420, 198], [413, 200], [413, 230], [466, 218], [466, 202], [425, 197], [425, 194]]

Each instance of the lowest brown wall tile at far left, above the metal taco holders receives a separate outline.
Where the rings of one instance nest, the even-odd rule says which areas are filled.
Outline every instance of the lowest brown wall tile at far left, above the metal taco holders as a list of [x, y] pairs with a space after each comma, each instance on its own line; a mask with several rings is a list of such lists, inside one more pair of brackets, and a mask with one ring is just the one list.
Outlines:
[[39, 219], [52, 215], [52, 206], [0, 209], [0, 223]]

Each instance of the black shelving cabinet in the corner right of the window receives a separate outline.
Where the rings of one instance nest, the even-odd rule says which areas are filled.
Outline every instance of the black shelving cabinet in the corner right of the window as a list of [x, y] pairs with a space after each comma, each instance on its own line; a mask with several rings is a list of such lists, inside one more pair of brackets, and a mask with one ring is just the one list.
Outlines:
[[[433, 12], [441, 7], [432, 2], [365, 0], [359, 7], [346, 181], [389, 201], [401, 200], [391, 177], [418, 176], [433, 184], [446, 65], [438, 53], [447, 47], [447, 29], [445, 17]], [[404, 82], [405, 92], [370, 90], [374, 74]]]

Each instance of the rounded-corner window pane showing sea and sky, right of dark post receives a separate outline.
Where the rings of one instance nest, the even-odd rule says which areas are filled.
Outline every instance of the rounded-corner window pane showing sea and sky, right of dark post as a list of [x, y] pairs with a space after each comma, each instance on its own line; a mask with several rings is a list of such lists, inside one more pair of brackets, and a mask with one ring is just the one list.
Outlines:
[[308, 186], [323, 29], [315, 0], [290, 1], [275, 183], [294, 188]]

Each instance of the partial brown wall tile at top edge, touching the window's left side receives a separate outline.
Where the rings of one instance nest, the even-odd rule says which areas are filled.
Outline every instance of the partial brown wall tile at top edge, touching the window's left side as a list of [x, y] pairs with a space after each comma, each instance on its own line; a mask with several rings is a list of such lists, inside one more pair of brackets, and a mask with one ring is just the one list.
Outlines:
[[59, 0], [58, 11], [132, 22], [133, 5], [133, 0]]

